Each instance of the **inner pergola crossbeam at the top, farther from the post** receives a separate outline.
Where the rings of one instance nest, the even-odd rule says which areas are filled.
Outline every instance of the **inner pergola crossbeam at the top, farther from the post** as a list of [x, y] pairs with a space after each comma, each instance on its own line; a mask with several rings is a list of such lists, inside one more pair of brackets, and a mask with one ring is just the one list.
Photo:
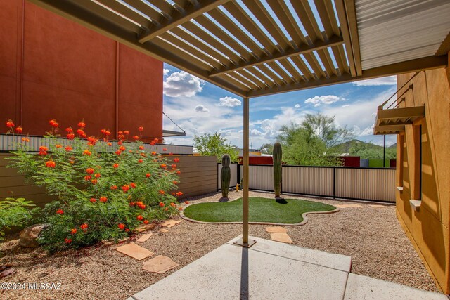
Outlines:
[[203, 15], [203, 13], [207, 13], [211, 11], [213, 8], [217, 6], [221, 6], [225, 4], [229, 0], [203, 0], [201, 4], [194, 6], [193, 4], [188, 4], [184, 11], [177, 11], [174, 9], [174, 13], [171, 15], [170, 19], [164, 18], [160, 20], [160, 25], [153, 25], [150, 27], [148, 32], [143, 32], [139, 37], [139, 43], [145, 43], [146, 41], [150, 41], [158, 35], [163, 34], [174, 27], [177, 27], [188, 20], [198, 17], [199, 15]]

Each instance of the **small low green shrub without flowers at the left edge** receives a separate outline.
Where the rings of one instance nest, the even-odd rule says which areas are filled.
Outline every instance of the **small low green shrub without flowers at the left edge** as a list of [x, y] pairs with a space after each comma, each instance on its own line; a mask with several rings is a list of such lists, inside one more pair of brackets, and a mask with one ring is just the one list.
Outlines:
[[13, 226], [25, 226], [37, 209], [35, 205], [23, 198], [6, 198], [0, 202], [0, 240], [4, 239], [5, 230]]

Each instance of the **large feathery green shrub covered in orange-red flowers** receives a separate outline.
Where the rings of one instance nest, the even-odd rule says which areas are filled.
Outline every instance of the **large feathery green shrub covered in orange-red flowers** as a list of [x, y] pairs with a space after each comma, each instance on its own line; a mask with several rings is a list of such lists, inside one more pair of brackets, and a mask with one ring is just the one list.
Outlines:
[[[99, 137], [88, 138], [86, 124], [79, 122], [76, 136], [72, 127], [63, 131], [67, 138], [63, 143], [58, 135], [60, 124], [52, 119], [49, 125], [38, 155], [23, 142], [11, 157], [11, 167], [57, 197], [46, 204], [39, 220], [50, 224], [39, 237], [46, 249], [119, 240], [149, 220], [164, 220], [177, 213], [177, 207], [170, 205], [176, 197], [169, 192], [176, 190], [179, 177], [174, 166], [167, 168], [171, 161], [162, 155], [146, 155], [154, 149], [150, 146], [146, 152], [143, 147], [143, 128], [136, 130], [139, 136], [120, 131], [119, 145], [113, 146], [107, 129]], [[11, 120], [6, 126], [15, 134]]]

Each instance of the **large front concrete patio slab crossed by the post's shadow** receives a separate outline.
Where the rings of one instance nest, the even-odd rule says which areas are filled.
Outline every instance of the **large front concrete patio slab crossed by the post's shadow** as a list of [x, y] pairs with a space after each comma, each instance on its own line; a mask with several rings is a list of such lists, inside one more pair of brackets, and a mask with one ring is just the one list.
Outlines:
[[[266, 242], [252, 239], [257, 244]], [[129, 299], [342, 299], [347, 275], [342, 270], [223, 244]]]

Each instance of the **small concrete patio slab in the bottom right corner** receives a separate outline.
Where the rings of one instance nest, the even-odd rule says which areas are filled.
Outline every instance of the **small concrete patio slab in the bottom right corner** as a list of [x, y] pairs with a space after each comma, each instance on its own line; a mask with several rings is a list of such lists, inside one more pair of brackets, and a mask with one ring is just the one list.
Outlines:
[[349, 274], [347, 288], [345, 289], [346, 300], [390, 300], [390, 299], [420, 299], [420, 300], [448, 300], [444, 294], [437, 294], [398, 285], [394, 282], [383, 281], [362, 275]]

